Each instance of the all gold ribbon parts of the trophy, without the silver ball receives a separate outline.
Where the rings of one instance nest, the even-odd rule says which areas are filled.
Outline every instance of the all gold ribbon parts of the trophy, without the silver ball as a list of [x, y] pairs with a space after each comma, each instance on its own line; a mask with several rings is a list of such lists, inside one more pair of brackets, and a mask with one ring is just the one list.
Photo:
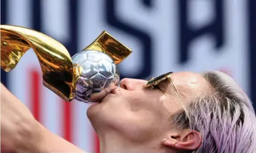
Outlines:
[[[82, 69], [72, 63], [67, 49], [58, 41], [36, 30], [1, 25], [1, 68], [4, 71], [9, 72], [15, 68], [30, 48], [39, 59], [43, 85], [65, 101], [71, 101], [75, 96], [73, 91]], [[84, 50], [105, 52], [116, 64], [132, 52], [105, 31]]]

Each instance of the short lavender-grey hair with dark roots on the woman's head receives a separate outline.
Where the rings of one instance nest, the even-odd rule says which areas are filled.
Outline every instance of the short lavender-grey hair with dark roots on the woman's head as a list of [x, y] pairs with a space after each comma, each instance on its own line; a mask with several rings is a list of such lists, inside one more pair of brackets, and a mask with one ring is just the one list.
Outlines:
[[181, 129], [200, 131], [198, 152], [253, 153], [256, 149], [256, 118], [250, 99], [232, 77], [219, 71], [202, 74], [214, 94], [195, 98], [171, 117]]

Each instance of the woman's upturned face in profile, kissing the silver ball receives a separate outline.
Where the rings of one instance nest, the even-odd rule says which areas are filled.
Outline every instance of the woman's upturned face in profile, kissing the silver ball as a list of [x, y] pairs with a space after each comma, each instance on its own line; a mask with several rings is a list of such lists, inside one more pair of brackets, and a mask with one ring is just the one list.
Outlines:
[[[194, 96], [209, 91], [206, 80], [196, 73], [171, 74], [184, 105]], [[170, 130], [170, 116], [183, 109], [176, 91], [165, 79], [156, 87], [143, 88], [146, 80], [122, 79], [120, 86], [88, 109], [88, 118], [100, 135], [118, 133], [131, 141], [164, 137]]]

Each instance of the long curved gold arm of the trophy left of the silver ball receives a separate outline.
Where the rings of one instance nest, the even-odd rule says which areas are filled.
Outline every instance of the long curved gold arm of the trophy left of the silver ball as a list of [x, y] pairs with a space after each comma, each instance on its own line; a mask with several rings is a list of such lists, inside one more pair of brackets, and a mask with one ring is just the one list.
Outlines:
[[67, 49], [58, 41], [36, 30], [1, 25], [1, 68], [4, 71], [15, 68], [29, 48], [34, 50], [39, 59], [43, 85], [66, 101], [73, 99], [72, 83], [78, 74], [73, 73], [75, 70]]

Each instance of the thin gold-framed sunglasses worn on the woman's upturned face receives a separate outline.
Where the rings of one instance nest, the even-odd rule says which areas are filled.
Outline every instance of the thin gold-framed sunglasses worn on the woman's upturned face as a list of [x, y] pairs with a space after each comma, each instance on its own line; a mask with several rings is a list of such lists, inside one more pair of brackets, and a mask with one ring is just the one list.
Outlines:
[[187, 112], [186, 107], [185, 107], [183, 101], [181, 100], [181, 96], [179, 96], [179, 93], [176, 90], [175, 85], [173, 84], [173, 81], [171, 80], [171, 77], [170, 77], [171, 74], [173, 74], [173, 72], [162, 74], [156, 78], [152, 77], [151, 79], [148, 80], [148, 82], [146, 82], [145, 85], [143, 85], [143, 88], [154, 87], [157, 84], [159, 84], [160, 82], [162, 82], [163, 80], [168, 79], [169, 82], [171, 83], [171, 87], [173, 87], [173, 89], [175, 90], [175, 93], [178, 96], [179, 101], [181, 102], [181, 105], [183, 106], [183, 109], [185, 110], [185, 112]]

